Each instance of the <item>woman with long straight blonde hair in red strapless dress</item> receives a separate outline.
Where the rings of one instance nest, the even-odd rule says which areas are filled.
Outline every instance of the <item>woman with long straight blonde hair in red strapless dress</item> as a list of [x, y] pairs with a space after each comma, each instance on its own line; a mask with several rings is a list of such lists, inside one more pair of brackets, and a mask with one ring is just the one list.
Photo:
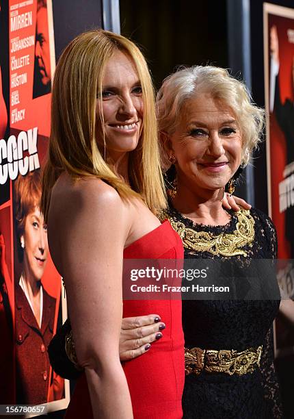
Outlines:
[[[103, 30], [70, 42], [55, 71], [51, 129], [42, 212], [85, 370], [66, 417], [179, 419], [181, 301], [122, 304], [124, 257], [183, 259], [181, 239], [155, 216], [166, 205], [155, 101], [133, 42]], [[165, 335], [122, 365], [122, 316], [148, 312], [165, 318]]]

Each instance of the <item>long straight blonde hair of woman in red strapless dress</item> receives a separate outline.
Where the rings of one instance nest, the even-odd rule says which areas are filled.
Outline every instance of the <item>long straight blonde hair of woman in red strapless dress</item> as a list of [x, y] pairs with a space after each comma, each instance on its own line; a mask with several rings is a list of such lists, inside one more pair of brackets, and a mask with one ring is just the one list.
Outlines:
[[[132, 188], [105, 162], [96, 140], [97, 94], [101, 96], [105, 66], [118, 50], [133, 61], [144, 101], [142, 134], [129, 155]], [[48, 218], [51, 190], [64, 171], [73, 179], [103, 179], [122, 199], [140, 196], [153, 212], [165, 207], [157, 134], [155, 92], [141, 51], [124, 36], [103, 29], [77, 36], [64, 49], [54, 75], [51, 136], [42, 177], [44, 220]]]

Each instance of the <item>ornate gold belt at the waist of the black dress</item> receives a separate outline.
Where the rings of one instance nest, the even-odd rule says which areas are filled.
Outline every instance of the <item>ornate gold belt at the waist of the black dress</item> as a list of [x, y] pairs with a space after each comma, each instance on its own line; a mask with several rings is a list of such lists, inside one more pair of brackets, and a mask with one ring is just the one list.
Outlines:
[[224, 372], [225, 374], [243, 375], [254, 371], [254, 366], [260, 366], [263, 346], [248, 348], [237, 352], [200, 348], [185, 348], [185, 374], [200, 374], [206, 372]]

